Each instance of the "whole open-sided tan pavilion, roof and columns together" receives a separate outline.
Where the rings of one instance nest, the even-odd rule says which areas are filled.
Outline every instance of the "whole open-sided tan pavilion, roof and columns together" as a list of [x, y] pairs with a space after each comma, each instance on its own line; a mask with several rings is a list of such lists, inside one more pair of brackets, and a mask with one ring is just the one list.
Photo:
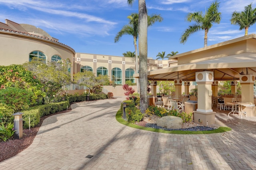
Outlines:
[[[256, 116], [254, 105], [254, 83], [256, 75], [256, 34], [250, 34], [222, 43], [174, 55], [176, 65], [148, 71], [150, 81], [174, 81], [176, 95], [181, 95], [184, 81], [185, 94], [189, 93], [189, 81], [198, 84], [198, 109], [194, 111], [195, 123], [214, 124], [212, 95], [218, 95], [218, 81], [232, 81], [234, 90], [237, 81], [242, 87], [242, 103], [248, 116]], [[139, 78], [139, 74], [134, 77]], [[153, 88], [156, 95], [156, 86]]]

